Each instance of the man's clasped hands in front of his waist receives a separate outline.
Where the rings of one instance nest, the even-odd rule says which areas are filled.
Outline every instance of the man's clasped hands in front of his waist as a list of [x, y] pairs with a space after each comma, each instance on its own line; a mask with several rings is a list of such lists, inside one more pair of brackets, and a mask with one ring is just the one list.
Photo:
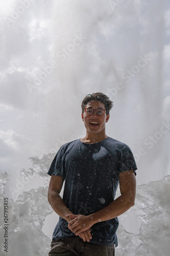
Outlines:
[[[71, 221], [68, 222], [68, 228], [76, 234], [76, 236], [81, 237], [81, 234], [88, 234], [89, 239], [91, 239], [91, 226], [92, 218], [84, 215], [72, 215], [69, 214], [69, 217], [72, 218]], [[84, 239], [83, 239], [84, 240]], [[87, 240], [87, 239], [86, 239]]]

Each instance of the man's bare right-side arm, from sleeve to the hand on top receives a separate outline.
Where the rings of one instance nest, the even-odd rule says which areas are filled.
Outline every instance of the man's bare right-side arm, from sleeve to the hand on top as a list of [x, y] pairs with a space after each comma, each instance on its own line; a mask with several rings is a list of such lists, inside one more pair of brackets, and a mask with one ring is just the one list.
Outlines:
[[111, 220], [132, 207], [136, 194], [136, 178], [133, 170], [119, 174], [119, 186], [121, 195], [116, 200], [88, 216], [70, 215], [76, 218], [68, 223], [68, 228], [78, 235], [79, 232], [90, 228], [93, 224]]

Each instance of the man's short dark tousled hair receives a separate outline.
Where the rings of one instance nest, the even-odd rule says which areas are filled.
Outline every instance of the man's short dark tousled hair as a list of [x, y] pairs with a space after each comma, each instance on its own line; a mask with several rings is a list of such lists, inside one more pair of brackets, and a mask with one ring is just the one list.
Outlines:
[[85, 106], [87, 103], [91, 100], [99, 100], [105, 105], [106, 109], [106, 114], [109, 115], [109, 111], [112, 109], [113, 106], [113, 101], [109, 99], [108, 96], [106, 96], [103, 93], [92, 93], [92, 94], [87, 94], [86, 97], [82, 101], [82, 113], [84, 112]]

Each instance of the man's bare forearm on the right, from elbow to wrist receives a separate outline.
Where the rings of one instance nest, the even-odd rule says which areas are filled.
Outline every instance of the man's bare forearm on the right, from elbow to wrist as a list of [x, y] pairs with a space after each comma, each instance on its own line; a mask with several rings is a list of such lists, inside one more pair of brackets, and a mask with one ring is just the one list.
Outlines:
[[93, 224], [114, 219], [115, 217], [123, 214], [130, 207], [134, 205], [134, 200], [127, 196], [119, 196], [116, 200], [111, 202], [105, 208], [94, 212], [90, 217], [93, 220]]

